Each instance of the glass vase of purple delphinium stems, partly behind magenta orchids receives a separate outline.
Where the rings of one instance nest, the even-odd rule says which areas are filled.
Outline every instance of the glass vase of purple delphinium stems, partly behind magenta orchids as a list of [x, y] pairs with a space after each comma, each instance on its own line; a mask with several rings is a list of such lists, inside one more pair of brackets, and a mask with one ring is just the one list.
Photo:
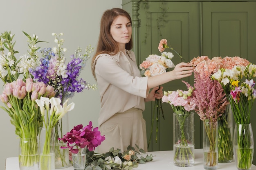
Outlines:
[[69, 166], [69, 149], [62, 149], [61, 146], [67, 146], [63, 141], [58, 140], [58, 138], [62, 138], [68, 132], [68, 114], [65, 114], [63, 118], [58, 120], [55, 125], [55, 168], [67, 168]]

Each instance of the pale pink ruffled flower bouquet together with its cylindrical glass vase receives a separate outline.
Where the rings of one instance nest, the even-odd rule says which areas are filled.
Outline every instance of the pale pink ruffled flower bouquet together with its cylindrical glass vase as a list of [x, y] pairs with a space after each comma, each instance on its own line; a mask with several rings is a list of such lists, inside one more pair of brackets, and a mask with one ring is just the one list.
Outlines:
[[[184, 82], [184, 81], [183, 81]], [[192, 93], [193, 87], [184, 82], [188, 90], [164, 92], [163, 102], [171, 105], [173, 113], [173, 161], [175, 166], [193, 166], [194, 154], [194, 117], [195, 109]]]

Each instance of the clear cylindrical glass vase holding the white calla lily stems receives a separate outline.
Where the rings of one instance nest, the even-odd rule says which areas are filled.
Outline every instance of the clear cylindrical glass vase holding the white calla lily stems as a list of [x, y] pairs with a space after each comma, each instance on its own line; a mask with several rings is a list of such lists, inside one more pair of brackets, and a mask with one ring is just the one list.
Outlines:
[[55, 170], [54, 128], [39, 128], [39, 170]]

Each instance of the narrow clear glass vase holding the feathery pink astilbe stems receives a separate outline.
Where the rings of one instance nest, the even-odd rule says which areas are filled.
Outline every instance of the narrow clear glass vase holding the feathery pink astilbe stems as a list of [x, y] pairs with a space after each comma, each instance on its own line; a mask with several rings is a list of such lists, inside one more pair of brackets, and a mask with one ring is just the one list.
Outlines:
[[204, 169], [218, 168], [218, 122], [203, 122]]

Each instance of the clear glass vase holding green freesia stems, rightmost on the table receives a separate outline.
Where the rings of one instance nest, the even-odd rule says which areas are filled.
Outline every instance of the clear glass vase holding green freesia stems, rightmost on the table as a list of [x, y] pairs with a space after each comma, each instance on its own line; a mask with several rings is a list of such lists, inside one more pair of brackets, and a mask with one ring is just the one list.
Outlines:
[[234, 157], [238, 170], [250, 170], [254, 153], [251, 124], [236, 124], [234, 130]]

